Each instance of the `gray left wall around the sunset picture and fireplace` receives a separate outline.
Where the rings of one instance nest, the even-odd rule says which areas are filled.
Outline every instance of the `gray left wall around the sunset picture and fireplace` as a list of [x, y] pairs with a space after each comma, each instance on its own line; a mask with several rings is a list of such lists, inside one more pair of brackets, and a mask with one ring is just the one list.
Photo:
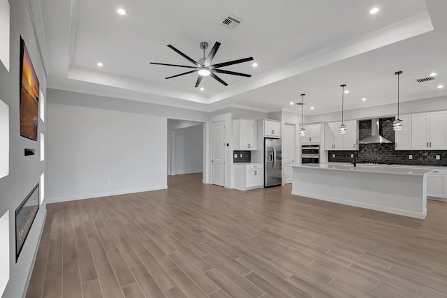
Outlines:
[[[9, 175], [0, 179], [0, 216], [9, 213], [9, 239], [2, 237], [3, 245], [9, 244], [9, 255], [0, 258], [9, 259], [10, 278], [2, 297], [22, 297], [27, 286], [34, 255], [38, 246], [41, 229], [45, 220], [45, 200], [34, 220], [20, 258], [15, 262], [15, 209], [24, 200], [45, 172], [46, 161], [40, 161], [38, 141], [20, 136], [20, 35], [27, 44], [28, 52], [45, 95], [46, 75], [38, 50], [36, 37], [31, 25], [31, 17], [26, 0], [10, 1], [10, 71], [0, 64], [0, 99], [9, 106]], [[38, 120], [38, 135], [45, 133], [45, 123]], [[46, 134], [45, 134], [46, 135]], [[5, 144], [0, 144], [5, 146]], [[36, 155], [24, 156], [24, 149], [36, 149]], [[0, 295], [3, 289], [0, 288]]]

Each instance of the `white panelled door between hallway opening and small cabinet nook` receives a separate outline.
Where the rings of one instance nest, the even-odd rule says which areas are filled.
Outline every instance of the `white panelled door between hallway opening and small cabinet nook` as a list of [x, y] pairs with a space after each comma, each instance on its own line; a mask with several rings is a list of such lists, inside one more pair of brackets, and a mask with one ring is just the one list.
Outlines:
[[211, 183], [225, 186], [225, 121], [212, 124]]

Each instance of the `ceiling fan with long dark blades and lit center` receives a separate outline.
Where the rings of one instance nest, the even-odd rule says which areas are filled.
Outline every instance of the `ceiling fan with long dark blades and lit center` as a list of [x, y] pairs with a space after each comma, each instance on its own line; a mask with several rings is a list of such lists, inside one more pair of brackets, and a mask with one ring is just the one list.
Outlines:
[[157, 65], [166, 65], [166, 66], [177, 66], [177, 67], [184, 67], [184, 68], [194, 68], [191, 71], [186, 71], [186, 73], [180, 73], [179, 75], [173, 75], [171, 77], [166, 77], [166, 79], [172, 79], [173, 77], [179, 77], [180, 75], [187, 75], [189, 73], [196, 73], [198, 72], [197, 82], [196, 82], [196, 88], [202, 81], [203, 77], [206, 77], [207, 75], [210, 75], [214, 80], [219, 81], [221, 84], [228, 86], [228, 84], [223, 81], [220, 77], [216, 75], [216, 73], [225, 73], [227, 75], [240, 75], [241, 77], [251, 77], [251, 75], [248, 75], [247, 73], [235, 73], [234, 71], [230, 70], [223, 70], [219, 69], [223, 66], [229, 66], [233, 64], [240, 64], [243, 62], [251, 61], [253, 60], [253, 57], [244, 58], [244, 59], [237, 59], [233, 61], [223, 62], [219, 64], [211, 64], [212, 59], [214, 58], [214, 55], [216, 54], [217, 50], [219, 50], [219, 47], [221, 46], [221, 43], [216, 42], [214, 43], [214, 46], [212, 47], [210, 53], [208, 53], [208, 56], [205, 58], [205, 50], [208, 48], [208, 43], [206, 41], [203, 41], [200, 43], [200, 49], [203, 50], [203, 58], [198, 59], [198, 62], [194, 61], [190, 57], [186, 56], [186, 54], [180, 52], [177, 50], [176, 47], [173, 45], [168, 45], [168, 47], [171, 50], [174, 50], [178, 54], [180, 54], [182, 57], [184, 57], [186, 60], [190, 61], [194, 66], [186, 66], [186, 65], [177, 65], [177, 64], [165, 64], [165, 63], [156, 63], [151, 62], [151, 64], [157, 64]]

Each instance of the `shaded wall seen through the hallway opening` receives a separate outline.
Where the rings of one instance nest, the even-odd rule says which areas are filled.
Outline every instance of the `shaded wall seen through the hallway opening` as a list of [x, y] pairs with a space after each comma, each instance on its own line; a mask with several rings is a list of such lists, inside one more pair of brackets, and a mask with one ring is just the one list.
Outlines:
[[203, 171], [203, 126], [179, 128], [175, 133], [173, 174], [200, 173]]

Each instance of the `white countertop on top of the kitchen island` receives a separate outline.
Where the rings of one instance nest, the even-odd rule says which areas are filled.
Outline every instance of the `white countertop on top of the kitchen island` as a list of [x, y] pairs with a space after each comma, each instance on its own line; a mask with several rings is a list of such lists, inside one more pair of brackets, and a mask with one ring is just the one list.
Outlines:
[[306, 163], [304, 165], [292, 165], [292, 167], [305, 167], [321, 170], [356, 171], [383, 174], [404, 174], [423, 176], [432, 172], [432, 169], [410, 168], [410, 167], [389, 167], [388, 165], [357, 165], [354, 167], [350, 163]]

